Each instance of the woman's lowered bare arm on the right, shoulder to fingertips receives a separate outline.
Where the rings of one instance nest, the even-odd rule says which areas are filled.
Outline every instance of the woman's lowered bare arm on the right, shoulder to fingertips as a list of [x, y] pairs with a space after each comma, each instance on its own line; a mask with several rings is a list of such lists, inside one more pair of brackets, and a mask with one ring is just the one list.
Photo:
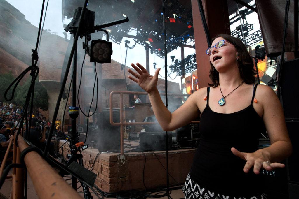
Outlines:
[[[254, 153], [243, 153], [235, 148], [231, 151], [238, 157], [247, 160], [243, 171], [247, 173], [254, 166], [254, 173], [259, 174], [260, 169], [271, 171], [275, 168], [282, 168], [285, 165], [277, 163], [292, 154], [292, 144], [289, 138], [286, 122], [283, 115], [283, 109], [275, 92], [268, 86], [258, 86], [261, 95], [259, 102], [263, 105], [263, 121], [265, 123], [270, 146], [259, 149]], [[270, 164], [264, 163], [269, 161]]]

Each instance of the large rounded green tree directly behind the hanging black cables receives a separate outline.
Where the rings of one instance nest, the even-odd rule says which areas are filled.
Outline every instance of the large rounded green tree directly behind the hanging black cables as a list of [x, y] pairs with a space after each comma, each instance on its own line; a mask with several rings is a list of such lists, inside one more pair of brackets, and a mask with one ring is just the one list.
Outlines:
[[[15, 95], [15, 101], [18, 105], [24, 105], [26, 101], [27, 92], [29, 90], [31, 83], [31, 76], [25, 81], [25, 83], [20, 86]], [[34, 86], [34, 100], [33, 100], [33, 112], [36, 112], [39, 108], [43, 111], [48, 110], [48, 92], [46, 88], [39, 82], [38, 77], [35, 80]], [[30, 104], [29, 104], [30, 107]]]

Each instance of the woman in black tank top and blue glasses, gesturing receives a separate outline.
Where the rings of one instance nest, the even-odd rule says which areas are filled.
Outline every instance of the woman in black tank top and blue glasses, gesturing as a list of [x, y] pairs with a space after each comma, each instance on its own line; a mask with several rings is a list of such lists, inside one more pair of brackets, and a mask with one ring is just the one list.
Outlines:
[[[128, 69], [129, 78], [148, 92], [163, 130], [172, 131], [201, 115], [202, 136], [183, 187], [185, 198], [266, 198], [260, 169], [282, 168], [278, 162], [292, 153], [280, 101], [270, 87], [254, 84], [253, 61], [239, 39], [220, 34], [206, 53], [213, 83], [173, 113], [156, 87], [160, 69], [152, 76], [139, 63], [131, 64], [137, 73]], [[271, 146], [258, 149], [265, 129]]]

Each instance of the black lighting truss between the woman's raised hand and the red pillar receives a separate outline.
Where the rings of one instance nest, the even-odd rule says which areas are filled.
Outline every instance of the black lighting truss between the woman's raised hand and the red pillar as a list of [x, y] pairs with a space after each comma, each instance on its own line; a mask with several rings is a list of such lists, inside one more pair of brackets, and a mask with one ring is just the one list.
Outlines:
[[177, 75], [182, 76], [186, 75], [193, 70], [196, 70], [196, 53], [188, 55], [181, 61], [176, 60], [176, 64], [171, 65], [170, 69], [172, 72], [176, 72]]

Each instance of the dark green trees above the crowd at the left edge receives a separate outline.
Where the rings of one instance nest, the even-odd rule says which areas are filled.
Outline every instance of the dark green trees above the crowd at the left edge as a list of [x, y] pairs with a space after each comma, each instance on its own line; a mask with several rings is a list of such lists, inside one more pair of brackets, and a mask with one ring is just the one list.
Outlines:
[[[4, 99], [4, 92], [6, 88], [8, 87], [9, 84], [14, 80], [15, 78], [11, 73], [3, 74], [0, 75], [0, 100], [7, 102]], [[15, 96], [12, 101], [9, 101], [8, 103], [14, 103], [20, 106], [23, 106], [26, 101], [26, 96], [27, 92], [30, 87], [30, 82], [31, 82], [31, 76], [26, 79], [23, 85], [18, 85], [16, 91], [15, 91]], [[11, 93], [10, 89], [10, 92]], [[10, 98], [10, 94], [8, 94], [8, 98]], [[33, 101], [33, 109], [36, 111], [39, 108], [46, 111], [48, 110], [48, 93], [46, 88], [39, 82], [38, 78], [35, 80], [35, 87], [34, 87], [34, 101]], [[30, 104], [29, 104], [30, 106]]]

